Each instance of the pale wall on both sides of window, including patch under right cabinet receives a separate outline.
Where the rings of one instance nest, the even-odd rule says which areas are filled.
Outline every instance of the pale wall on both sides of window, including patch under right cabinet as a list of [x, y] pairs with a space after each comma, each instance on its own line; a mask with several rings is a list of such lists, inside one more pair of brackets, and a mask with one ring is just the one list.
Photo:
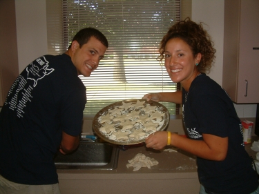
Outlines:
[[[32, 60], [48, 53], [46, 0], [15, 0], [19, 72]], [[209, 76], [222, 85], [224, 0], [192, 0], [192, 19], [207, 24], [216, 59]], [[256, 105], [235, 105], [239, 117], [256, 117]]]

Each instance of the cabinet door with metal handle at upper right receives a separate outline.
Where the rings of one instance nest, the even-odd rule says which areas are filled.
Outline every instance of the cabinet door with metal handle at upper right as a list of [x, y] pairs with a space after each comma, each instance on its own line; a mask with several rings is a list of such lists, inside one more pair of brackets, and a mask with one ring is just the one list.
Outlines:
[[[259, 103], [259, 1], [240, 4], [238, 103]], [[247, 88], [247, 89], [246, 89]]]

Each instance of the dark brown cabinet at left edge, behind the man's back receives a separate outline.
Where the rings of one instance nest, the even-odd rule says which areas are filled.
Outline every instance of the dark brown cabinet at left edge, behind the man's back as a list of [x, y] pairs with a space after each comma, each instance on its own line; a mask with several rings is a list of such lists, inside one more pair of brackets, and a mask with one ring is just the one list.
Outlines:
[[19, 75], [15, 0], [0, 0], [0, 106]]

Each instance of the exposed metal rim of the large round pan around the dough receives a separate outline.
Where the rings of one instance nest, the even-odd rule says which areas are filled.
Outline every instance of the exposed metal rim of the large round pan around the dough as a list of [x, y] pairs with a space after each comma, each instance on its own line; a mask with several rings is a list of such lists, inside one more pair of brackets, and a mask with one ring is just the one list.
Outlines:
[[[160, 126], [160, 128], [158, 129], [159, 131], [165, 130], [167, 128], [167, 126], [169, 125], [169, 120], [170, 120], [170, 115], [169, 115], [169, 111], [167, 110], [167, 108], [160, 104], [159, 102], [156, 101], [146, 101], [145, 99], [127, 99], [124, 100], [124, 103], [133, 103], [135, 104], [137, 102], [137, 100], [139, 101], [145, 101], [144, 106], [146, 106], [146, 104], [150, 104], [151, 106], [157, 106], [160, 110], [160, 112], [164, 113], [164, 122], [162, 124], [162, 126]], [[122, 106], [122, 101], [117, 101], [113, 104], [110, 104], [104, 108], [102, 108], [102, 110], [99, 110], [99, 112], [95, 115], [94, 119], [93, 119], [93, 130], [95, 131], [96, 135], [98, 137], [100, 137], [101, 139], [103, 139], [106, 142], [109, 142], [111, 144], [119, 144], [119, 145], [132, 145], [132, 144], [140, 144], [142, 142], [145, 141], [145, 139], [133, 139], [133, 138], [129, 138], [127, 140], [113, 140], [113, 139], [109, 139], [108, 135], [104, 135], [99, 128], [102, 127], [102, 124], [99, 123], [99, 117], [102, 115], [106, 115], [108, 113], [108, 110], [114, 109], [117, 106]]]

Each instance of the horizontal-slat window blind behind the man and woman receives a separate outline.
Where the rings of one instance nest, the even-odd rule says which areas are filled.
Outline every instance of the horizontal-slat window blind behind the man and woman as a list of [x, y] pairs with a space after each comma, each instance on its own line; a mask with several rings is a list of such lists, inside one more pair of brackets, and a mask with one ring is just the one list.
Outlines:
[[[86, 86], [84, 115], [116, 101], [180, 89], [156, 60], [162, 37], [180, 21], [180, 0], [63, 0], [62, 13], [64, 52], [81, 28], [97, 28], [109, 43], [97, 70], [80, 76]], [[175, 104], [162, 104], [179, 114]]]

